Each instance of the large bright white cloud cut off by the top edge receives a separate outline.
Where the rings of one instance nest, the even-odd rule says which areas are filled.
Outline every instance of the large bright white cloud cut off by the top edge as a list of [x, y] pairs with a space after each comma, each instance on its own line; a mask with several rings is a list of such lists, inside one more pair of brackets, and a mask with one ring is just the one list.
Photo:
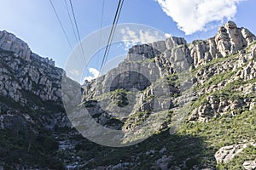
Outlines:
[[186, 35], [207, 31], [212, 21], [231, 20], [242, 0], [156, 0]]

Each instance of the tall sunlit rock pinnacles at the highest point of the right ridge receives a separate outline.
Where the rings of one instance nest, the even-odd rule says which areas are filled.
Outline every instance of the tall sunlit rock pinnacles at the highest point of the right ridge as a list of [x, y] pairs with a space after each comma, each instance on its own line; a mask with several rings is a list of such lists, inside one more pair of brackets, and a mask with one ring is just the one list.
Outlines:
[[194, 41], [189, 44], [191, 56], [195, 67], [206, 64], [212, 59], [218, 59], [230, 54], [236, 54], [239, 50], [246, 48], [256, 37], [246, 28], [238, 28], [236, 23], [229, 21], [218, 28], [215, 37], [205, 41]]

